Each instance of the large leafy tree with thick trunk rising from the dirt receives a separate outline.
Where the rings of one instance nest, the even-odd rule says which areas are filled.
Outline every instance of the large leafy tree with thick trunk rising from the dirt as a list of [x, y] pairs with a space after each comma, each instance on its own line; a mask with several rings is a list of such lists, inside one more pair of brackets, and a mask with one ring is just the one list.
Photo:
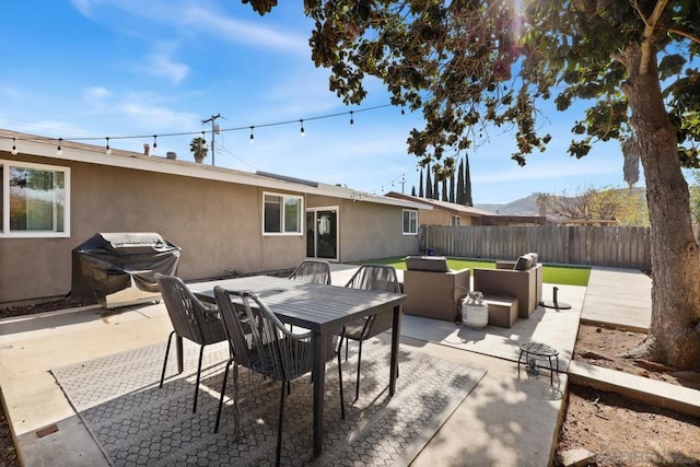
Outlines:
[[[260, 14], [277, 3], [243, 1]], [[653, 265], [652, 323], [634, 354], [698, 366], [700, 255], [681, 164], [700, 166], [700, 2], [305, 0], [304, 12], [312, 59], [345, 103], [361, 103], [372, 75], [393, 104], [422, 112], [424, 128], [407, 140], [421, 162], [447, 163], [480, 132], [512, 125], [512, 159], [524, 165], [550, 140], [538, 106], [552, 94], [560, 110], [591, 103], [572, 128], [572, 156], [633, 137]]]

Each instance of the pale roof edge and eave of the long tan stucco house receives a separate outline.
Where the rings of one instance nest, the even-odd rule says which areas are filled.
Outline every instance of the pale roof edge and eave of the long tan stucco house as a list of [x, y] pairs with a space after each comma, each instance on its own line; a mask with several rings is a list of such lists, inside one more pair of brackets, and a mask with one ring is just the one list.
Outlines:
[[59, 140], [56, 138], [0, 129], [0, 151], [10, 152], [13, 144], [16, 145], [20, 153], [27, 155], [84, 162], [113, 167], [133, 168], [144, 172], [158, 172], [161, 174], [205, 178], [232, 184], [252, 185], [268, 189], [298, 191], [308, 195], [328, 196], [411, 209], [432, 209], [430, 205], [422, 202], [422, 200], [406, 200], [385, 196], [375, 196], [365, 191], [358, 191], [338, 185], [303, 180], [283, 175], [264, 172], [253, 174], [232, 168], [215, 167], [207, 164], [197, 164], [188, 161], [178, 161], [158, 155], [147, 155], [132, 151], [124, 151], [116, 148], [110, 148], [110, 154], [107, 154], [105, 145], [85, 144], [75, 141], [61, 140], [61, 154], [59, 155], [57, 153]]

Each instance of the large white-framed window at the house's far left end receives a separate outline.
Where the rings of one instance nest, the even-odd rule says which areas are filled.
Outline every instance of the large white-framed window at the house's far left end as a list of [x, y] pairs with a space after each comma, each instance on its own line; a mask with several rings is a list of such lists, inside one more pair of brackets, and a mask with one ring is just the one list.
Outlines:
[[70, 235], [70, 168], [0, 160], [0, 235]]

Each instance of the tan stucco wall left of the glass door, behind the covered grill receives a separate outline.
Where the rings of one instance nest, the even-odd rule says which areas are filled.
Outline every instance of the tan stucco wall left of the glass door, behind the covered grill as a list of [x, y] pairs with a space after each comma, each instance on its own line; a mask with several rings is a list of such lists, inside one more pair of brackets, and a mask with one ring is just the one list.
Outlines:
[[[185, 280], [291, 268], [305, 256], [298, 236], [262, 236], [262, 188], [175, 175], [2, 157], [71, 168], [71, 232], [66, 238], [0, 238], [0, 303], [65, 295], [71, 250], [97, 232], [158, 232], [182, 247]], [[293, 192], [292, 192], [293, 194]]]

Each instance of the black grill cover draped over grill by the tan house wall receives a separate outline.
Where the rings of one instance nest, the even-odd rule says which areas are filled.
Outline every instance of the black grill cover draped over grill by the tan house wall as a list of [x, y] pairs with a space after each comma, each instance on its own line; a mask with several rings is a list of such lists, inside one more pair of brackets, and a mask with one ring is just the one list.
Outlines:
[[127, 288], [158, 292], [155, 273], [175, 275], [179, 254], [158, 233], [97, 233], [72, 250], [71, 295], [104, 302]]

